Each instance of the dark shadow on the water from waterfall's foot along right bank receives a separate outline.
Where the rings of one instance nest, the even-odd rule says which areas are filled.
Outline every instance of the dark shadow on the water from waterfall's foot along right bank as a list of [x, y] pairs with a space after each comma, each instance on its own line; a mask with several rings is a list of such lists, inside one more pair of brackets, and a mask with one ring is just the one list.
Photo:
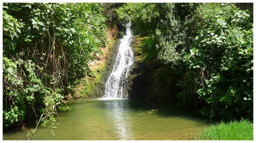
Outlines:
[[[119, 113], [132, 110], [135, 112], [147, 112], [153, 116], [157, 115], [161, 118], [178, 117], [187, 120], [203, 121], [205, 125], [209, 125], [211, 122], [207, 117], [201, 115], [194, 108], [189, 107], [177, 107], [168, 103], [158, 103], [154, 101], [138, 100], [138, 99], [125, 99], [120, 102], [119, 100], [106, 100], [104, 104], [98, 106], [102, 109], [114, 109]], [[214, 122], [214, 121], [212, 121]]]

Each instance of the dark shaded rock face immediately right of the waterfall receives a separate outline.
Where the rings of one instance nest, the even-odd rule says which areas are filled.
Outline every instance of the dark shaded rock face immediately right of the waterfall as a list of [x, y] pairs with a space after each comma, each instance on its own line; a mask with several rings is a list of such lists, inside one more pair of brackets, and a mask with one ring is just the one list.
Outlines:
[[176, 93], [176, 88], [166, 78], [170, 71], [155, 58], [148, 58], [145, 47], [141, 46], [144, 38], [135, 36], [132, 41], [135, 62], [130, 72], [129, 98], [175, 102], [173, 94]]

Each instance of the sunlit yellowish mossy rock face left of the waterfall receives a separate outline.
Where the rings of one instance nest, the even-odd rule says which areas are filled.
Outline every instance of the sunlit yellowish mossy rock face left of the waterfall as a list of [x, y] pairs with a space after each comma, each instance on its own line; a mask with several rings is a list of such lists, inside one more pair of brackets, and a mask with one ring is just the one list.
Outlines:
[[121, 35], [116, 25], [109, 25], [106, 33], [109, 44], [105, 48], [100, 48], [101, 52], [95, 55], [96, 59], [88, 64], [91, 73], [79, 79], [74, 89], [74, 96], [69, 94], [67, 99], [98, 98], [104, 95], [104, 85], [115, 64], [120, 43], [118, 38]]

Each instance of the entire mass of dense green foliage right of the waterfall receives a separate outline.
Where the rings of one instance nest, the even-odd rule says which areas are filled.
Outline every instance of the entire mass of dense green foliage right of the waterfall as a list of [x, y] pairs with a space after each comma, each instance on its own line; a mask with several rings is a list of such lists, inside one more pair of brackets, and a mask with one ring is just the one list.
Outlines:
[[156, 60], [162, 71], [158, 77], [167, 83], [159, 87], [166, 92], [157, 99], [194, 105], [210, 118], [252, 119], [252, 9], [148, 3], [126, 4], [116, 11], [121, 22], [132, 21], [134, 34], [147, 37], [140, 46]]

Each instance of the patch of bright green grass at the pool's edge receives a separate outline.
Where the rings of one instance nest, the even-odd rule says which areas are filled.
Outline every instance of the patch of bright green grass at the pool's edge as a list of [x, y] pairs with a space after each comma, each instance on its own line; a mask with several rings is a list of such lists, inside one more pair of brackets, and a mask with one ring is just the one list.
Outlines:
[[198, 131], [195, 140], [253, 140], [253, 123], [249, 120], [221, 122]]

